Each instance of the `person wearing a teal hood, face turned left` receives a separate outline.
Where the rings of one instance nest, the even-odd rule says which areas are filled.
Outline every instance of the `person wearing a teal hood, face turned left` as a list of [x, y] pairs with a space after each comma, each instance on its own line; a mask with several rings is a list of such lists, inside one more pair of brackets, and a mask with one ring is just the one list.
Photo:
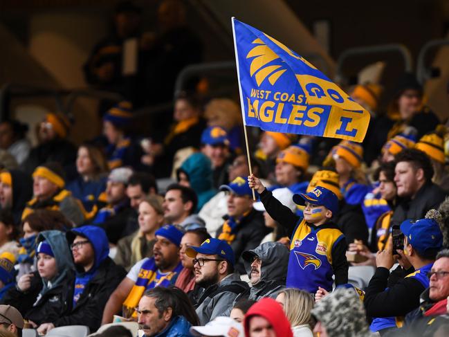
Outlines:
[[176, 175], [181, 185], [190, 187], [196, 192], [198, 196], [196, 213], [217, 194], [217, 190], [213, 187], [212, 164], [210, 159], [201, 152], [189, 156], [178, 168]]

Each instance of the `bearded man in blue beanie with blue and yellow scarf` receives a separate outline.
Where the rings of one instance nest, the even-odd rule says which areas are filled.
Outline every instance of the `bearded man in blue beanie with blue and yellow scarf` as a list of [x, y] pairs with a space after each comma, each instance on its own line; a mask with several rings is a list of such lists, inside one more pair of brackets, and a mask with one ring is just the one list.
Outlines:
[[123, 306], [123, 316], [137, 318], [137, 307], [143, 293], [156, 286], [174, 284], [178, 273], [183, 268], [179, 261], [179, 245], [183, 232], [173, 225], [165, 225], [156, 230], [156, 243], [153, 247], [154, 256], [137, 262], [129, 271], [127, 277], [112, 293], [103, 312], [102, 324], [112, 322], [114, 314]]

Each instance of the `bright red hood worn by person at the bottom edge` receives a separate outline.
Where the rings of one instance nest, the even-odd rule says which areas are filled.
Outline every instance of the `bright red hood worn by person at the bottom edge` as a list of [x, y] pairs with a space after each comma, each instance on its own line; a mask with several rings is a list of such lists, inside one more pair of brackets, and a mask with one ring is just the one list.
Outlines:
[[290, 322], [288, 322], [284, 310], [272, 298], [262, 298], [253, 307], [250, 307], [245, 315], [244, 327], [245, 336], [250, 337], [250, 318], [253, 316], [262, 316], [275, 330], [277, 337], [293, 337], [293, 332], [291, 331]]

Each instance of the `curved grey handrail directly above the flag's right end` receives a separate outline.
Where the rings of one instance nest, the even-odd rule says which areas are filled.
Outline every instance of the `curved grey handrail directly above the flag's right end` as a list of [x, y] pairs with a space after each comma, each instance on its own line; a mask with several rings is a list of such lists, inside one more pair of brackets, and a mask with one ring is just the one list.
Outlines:
[[349, 48], [346, 51], [343, 51], [337, 60], [337, 69], [336, 69], [336, 82], [344, 82], [345, 75], [342, 73], [342, 65], [343, 62], [347, 60], [348, 57], [354, 55], [367, 55], [367, 54], [377, 54], [377, 53], [385, 53], [385, 52], [397, 52], [400, 53], [404, 60], [404, 70], [407, 72], [412, 71], [412, 53], [410, 50], [404, 46], [403, 44], [381, 44], [377, 46], [365, 46], [365, 47], [356, 47]]

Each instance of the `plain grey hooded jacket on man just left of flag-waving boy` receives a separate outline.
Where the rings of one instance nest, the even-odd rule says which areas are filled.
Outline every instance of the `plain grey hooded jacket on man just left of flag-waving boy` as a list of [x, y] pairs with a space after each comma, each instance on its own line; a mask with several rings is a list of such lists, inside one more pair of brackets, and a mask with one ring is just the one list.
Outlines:
[[251, 279], [251, 263], [257, 256], [262, 260], [260, 280], [250, 290], [250, 300], [260, 300], [264, 297], [276, 298], [277, 293], [285, 288], [288, 257], [290, 251], [279, 242], [266, 242], [250, 251], [244, 251], [246, 273]]

